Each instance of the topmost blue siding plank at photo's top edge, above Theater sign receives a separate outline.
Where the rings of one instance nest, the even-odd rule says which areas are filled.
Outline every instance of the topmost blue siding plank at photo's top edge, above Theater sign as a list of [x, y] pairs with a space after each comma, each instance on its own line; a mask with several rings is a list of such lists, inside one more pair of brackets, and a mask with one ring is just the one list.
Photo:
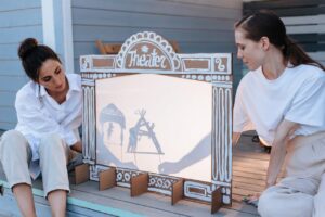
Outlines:
[[102, 9], [110, 11], [140, 12], [153, 14], [168, 14], [178, 16], [195, 16], [195, 17], [216, 17], [230, 18], [242, 16], [242, 7], [238, 2], [237, 8], [216, 8], [200, 4], [186, 4], [173, 1], [152, 1], [136, 0], [136, 4], [132, 0], [73, 0], [73, 10], [75, 8]]

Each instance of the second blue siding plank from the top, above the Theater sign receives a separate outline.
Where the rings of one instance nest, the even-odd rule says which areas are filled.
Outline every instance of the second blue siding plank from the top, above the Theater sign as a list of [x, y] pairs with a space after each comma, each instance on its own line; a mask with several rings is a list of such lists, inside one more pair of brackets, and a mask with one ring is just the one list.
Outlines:
[[[87, 16], [84, 16], [87, 14]], [[94, 9], [75, 9], [74, 25], [95, 25], [142, 28], [178, 28], [202, 30], [233, 30], [234, 20], [206, 18], [193, 16], [171, 16], [154, 13], [130, 13], [122, 11], [105, 11]]]

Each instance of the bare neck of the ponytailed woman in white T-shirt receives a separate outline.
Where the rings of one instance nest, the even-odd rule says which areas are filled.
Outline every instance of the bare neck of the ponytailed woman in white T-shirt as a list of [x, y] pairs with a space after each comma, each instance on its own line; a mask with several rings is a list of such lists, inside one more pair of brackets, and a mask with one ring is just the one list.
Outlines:
[[283, 54], [276, 49], [270, 52], [265, 63], [262, 65], [262, 72], [266, 79], [275, 80], [283, 74], [286, 65]]

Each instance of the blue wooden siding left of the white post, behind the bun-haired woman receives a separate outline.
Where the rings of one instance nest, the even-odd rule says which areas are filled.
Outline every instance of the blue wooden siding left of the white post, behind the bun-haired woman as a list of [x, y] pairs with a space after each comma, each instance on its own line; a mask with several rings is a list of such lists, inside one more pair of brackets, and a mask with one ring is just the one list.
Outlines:
[[41, 0], [11, 0], [0, 3], [0, 129], [16, 124], [14, 100], [28, 81], [17, 56], [27, 37], [42, 41]]

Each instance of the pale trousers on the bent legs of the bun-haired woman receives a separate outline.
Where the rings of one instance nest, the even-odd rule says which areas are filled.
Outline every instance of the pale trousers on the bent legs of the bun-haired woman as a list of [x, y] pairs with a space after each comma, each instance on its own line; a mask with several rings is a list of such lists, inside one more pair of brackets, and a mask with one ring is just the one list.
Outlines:
[[[67, 161], [69, 148], [58, 135], [46, 135], [39, 145], [39, 164], [42, 173], [44, 195], [54, 190], [69, 191]], [[25, 137], [16, 131], [4, 132], [0, 140], [0, 161], [10, 184], [18, 183], [31, 186], [28, 165], [31, 151]]]

